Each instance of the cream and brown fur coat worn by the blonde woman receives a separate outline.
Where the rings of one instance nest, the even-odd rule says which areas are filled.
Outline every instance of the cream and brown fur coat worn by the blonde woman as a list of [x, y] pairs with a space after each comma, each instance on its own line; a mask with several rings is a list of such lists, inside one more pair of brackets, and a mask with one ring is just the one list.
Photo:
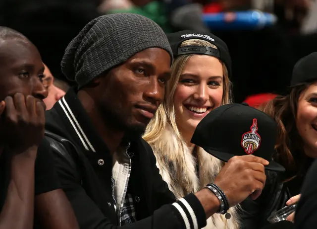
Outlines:
[[[180, 199], [211, 183], [224, 163], [197, 147], [198, 178], [196, 158], [192, 155], [193, 149], [187, 146], [182, 146], [184, 150], [179, 149], [179, 146], [175, 144], [177, 141], [175, 132], [168, 125], [159, 141], [160, 143], [152, 148], [157, 158], [160, 175], [176, 199]], [[207, 220], [207, 226], [204, 229], [239, 229], [237, 207], [230, 208], [228, 212], [231, 214], [231, 219], [226, 220], [224, 215], [214, 214]]]

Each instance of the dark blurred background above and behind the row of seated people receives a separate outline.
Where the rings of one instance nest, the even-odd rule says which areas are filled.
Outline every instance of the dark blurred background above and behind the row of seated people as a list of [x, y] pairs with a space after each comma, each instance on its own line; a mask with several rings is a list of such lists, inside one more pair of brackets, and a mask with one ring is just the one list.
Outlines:
[[315, 0], [0, 0], [0, 25], [26, 35], [52, 75], [60, 71], [67, 44], [91, 19], [133, 12], [174, 32], [211, 32], [228, 45], [236, 102], [282, 93], [295, 62], [317, 51]]

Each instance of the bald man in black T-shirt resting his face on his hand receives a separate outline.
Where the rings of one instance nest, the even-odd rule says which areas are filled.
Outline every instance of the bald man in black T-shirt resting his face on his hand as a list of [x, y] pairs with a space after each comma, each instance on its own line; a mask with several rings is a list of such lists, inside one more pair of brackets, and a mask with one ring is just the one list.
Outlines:
[[0, 26], [0, 229], [78, 229], [43, 140], [44, 69], [31, 41]]

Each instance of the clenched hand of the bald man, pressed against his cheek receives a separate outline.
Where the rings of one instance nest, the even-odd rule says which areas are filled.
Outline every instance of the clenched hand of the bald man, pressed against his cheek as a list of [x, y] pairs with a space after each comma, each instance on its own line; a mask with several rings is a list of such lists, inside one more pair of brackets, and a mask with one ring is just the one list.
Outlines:
[[[25, 150], [38, 146], [44, 136], [45, 111], [39, 99], [16, 93], [4, 99], [5, 110], [1, 131], [7, 145], [13, 150]], [[1, 102], [1, 105], [3, 103]], [[0, 107], [1, 112], [2, 106]]]

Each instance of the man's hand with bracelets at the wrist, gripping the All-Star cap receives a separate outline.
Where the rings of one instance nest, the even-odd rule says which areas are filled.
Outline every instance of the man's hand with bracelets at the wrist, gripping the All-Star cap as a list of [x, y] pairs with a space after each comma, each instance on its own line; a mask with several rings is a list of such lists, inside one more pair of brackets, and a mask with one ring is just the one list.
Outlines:
[[230, 207], [250, 196], [257, 199], [264, 188], [264, 165], [268, 161], [254, 155], [234, 156], [221, 169], [214, 184], [227, 196]]

